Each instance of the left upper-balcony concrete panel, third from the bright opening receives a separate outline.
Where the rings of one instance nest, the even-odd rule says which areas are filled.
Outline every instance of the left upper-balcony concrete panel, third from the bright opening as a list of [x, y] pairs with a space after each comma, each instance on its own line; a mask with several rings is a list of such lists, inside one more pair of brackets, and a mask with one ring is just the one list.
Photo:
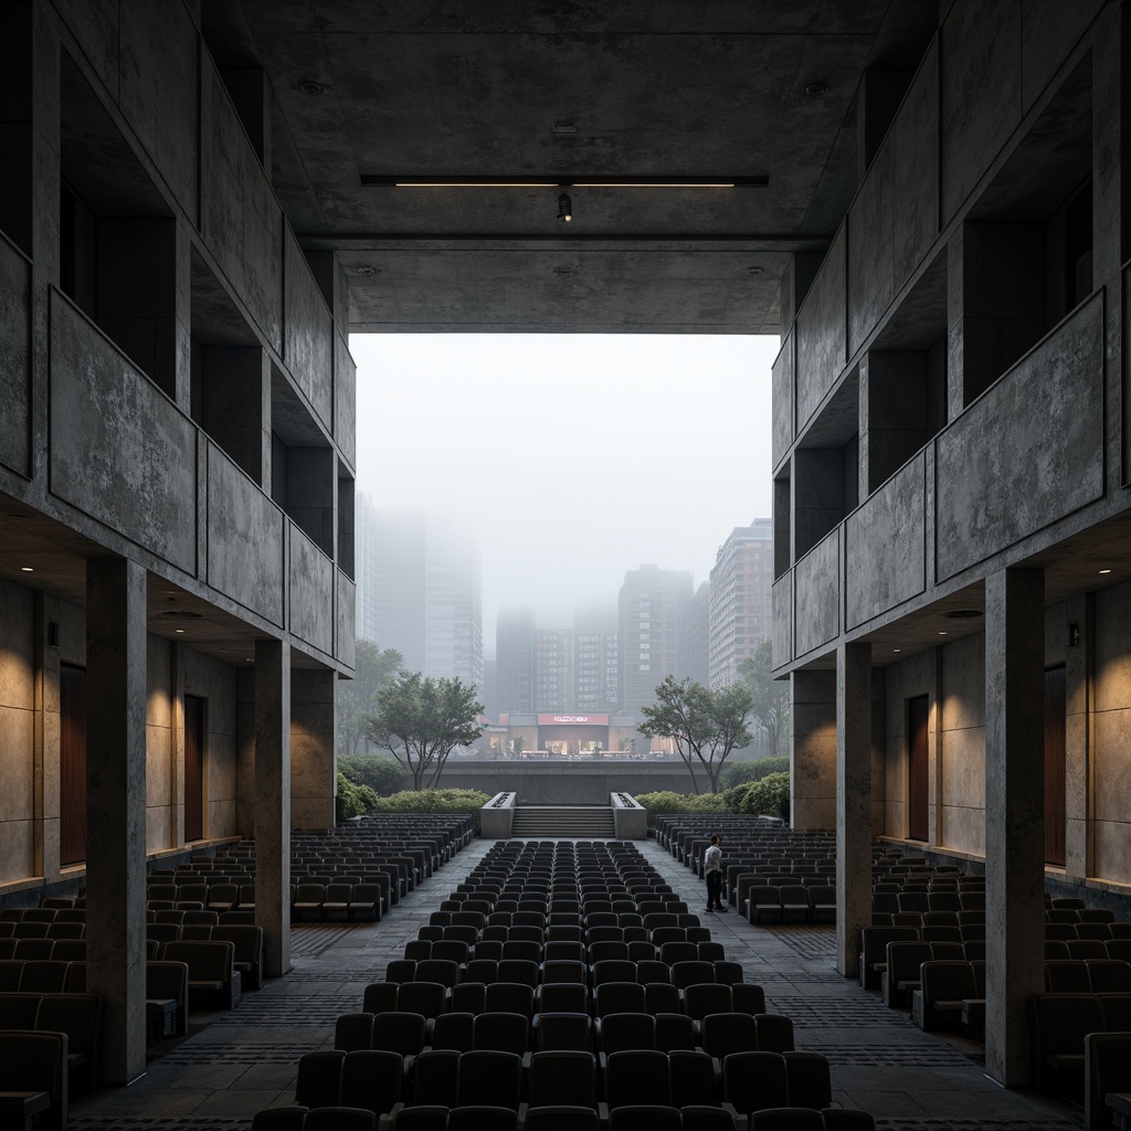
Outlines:
[[264, 337], [282, 351], [282, 214], [209, 60], [200, 75], [200, 228]]

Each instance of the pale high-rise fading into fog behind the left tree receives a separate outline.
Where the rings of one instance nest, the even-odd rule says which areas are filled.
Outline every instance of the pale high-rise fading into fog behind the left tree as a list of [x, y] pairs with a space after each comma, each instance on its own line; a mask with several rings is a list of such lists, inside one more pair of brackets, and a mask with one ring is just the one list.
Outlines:
[[357, 631], [396, 648], [405, 667], [483, 688], [478, 549], [418, 511], [378, 510], [359, 497]]

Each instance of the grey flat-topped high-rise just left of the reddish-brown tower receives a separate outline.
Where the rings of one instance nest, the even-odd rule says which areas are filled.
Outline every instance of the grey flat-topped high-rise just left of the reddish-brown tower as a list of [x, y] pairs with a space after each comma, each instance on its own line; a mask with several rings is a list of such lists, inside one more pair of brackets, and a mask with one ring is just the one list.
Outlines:
[[653, 702], [667, 675], [691, 667], [691, 573], [641, 566], [624, 575], [619, 604], [620, 706], [625, 714]]

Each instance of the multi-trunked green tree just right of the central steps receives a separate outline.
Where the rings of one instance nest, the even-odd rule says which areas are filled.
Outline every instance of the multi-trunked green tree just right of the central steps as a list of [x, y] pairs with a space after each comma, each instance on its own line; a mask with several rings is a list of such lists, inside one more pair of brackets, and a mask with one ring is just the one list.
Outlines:
[[656, 702], [641, 709], [645, 722], [637, 729], [649, 739], [671, 737], [691, 774], [696, 793], [697, 768], [707, 775], [710, 792], [718, 793], [724, 762], [750, 742], [746, 718], [751, 699], [744, 683], [708, 691], [694, 680], [676, 681], [668, 675], [656, 688]]

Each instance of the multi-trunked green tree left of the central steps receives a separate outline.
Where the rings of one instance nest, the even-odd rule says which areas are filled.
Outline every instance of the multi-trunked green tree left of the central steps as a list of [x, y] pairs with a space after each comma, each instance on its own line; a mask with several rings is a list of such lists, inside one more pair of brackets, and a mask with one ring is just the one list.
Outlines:
[[482, 713], [475, 688], [458, 679], [402, 672], [378, 692], [365, 733], [412, 774], [414, 789], [434, 789], [451, 751], [483, 733]]

